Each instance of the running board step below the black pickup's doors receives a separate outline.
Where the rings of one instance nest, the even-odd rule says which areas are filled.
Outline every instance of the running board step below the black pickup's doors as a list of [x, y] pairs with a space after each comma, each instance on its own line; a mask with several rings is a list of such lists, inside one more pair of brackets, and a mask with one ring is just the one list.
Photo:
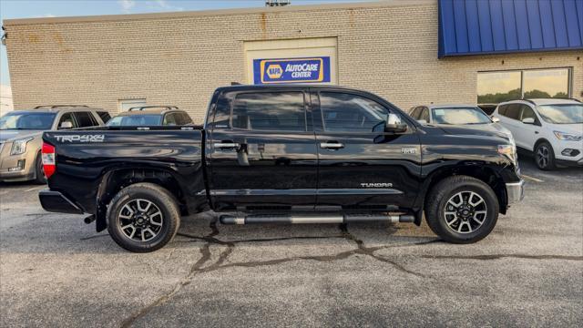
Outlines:
[[258, 223], [349, 223], [364, 221], [413, 222], [409, 214], [250, 214], [246, 216], [221, 215], [222, 224], [258, 224]]

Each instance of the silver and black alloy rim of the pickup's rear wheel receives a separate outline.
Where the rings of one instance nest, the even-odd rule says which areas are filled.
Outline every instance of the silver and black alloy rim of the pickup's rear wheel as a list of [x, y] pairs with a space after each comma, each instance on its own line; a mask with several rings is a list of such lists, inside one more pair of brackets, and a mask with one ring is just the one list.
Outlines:
[[119, 229], [132, 241], [151, 241], [162, 230], [162, 211], [149, 200], [130, 200], [119, 211]]

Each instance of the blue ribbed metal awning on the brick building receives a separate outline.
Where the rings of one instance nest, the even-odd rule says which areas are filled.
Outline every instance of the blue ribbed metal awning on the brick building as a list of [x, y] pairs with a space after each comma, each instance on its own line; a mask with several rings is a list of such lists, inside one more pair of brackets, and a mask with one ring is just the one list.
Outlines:
[[583, 49], [583, 0], [439, 0], [439, 54]]

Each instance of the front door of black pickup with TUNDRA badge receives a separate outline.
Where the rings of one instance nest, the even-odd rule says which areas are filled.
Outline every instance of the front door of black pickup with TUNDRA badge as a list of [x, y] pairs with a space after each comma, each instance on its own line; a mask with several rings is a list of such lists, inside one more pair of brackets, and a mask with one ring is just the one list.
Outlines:
[[[412, 206], [419, 188], [421, 149], [413, 124], [372, 95], [312, 92], [319, 155], [318, 206], [387, 209]], [[384, 132], [397, 114], [407, 131]], [[381, 124], [380, 132], [378, 125]]]

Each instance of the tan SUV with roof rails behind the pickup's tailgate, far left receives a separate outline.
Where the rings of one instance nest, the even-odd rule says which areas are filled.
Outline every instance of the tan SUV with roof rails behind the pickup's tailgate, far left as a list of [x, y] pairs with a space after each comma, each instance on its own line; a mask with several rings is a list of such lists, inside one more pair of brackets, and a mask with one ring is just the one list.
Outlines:
[[46, 183], [41, 163], [43, 131], [103, 126], [109, 113], [79, 105], [37, 106], [0, 118], [0, 180]]

